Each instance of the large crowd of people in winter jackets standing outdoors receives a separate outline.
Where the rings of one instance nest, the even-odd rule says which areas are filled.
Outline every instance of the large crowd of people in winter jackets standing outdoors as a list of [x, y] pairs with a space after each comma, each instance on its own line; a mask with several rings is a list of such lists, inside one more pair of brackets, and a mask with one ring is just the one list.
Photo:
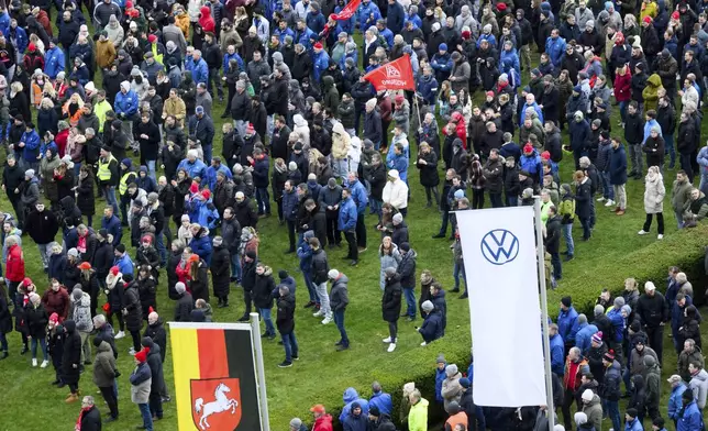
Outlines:
[[[286, 270], [276, 279], [258, 253], [258, 222], [274, 212], [288, 232], [285, 253], [299, 262], [305, 307], [322, 324], [334, 322], [338, 351], [350, 349], [350, 276], [331, 254], [344, 236], [343, 257], [356, 272], [372, 228], [380, 233], [372, 247], [389, 331], [383, 342], [394, 352], [400, 318], [420, 313], [421, 345], [434, 343], [445, 333], [446, 295], [417, 268], [407, 220], [413, 167], [425, 207], [440, 210], [433, 237], [452, 241], [451, 291], [464, 283], [461, 299], [467, 285], [454, 211], [484, 208], [486, 197], [494, 208], [542, 197], [554, 288], [561, 255], [575, 257], [575, 219], [588, 241], [598, 203], [623, 216], [630, 177], [645, 185], [640, 235], [656, 216], [663, 239], [668, 170], [677, 226], [708, 214], [708, 146], [699, 150], [708, 2], [362, 0], [351, 18], [346, 8], [343, 0], [0, 5], [2, 190], [13, 210], [0, 214], [0, 360], [14, 329], [32, 366], [52, 364], [54, 384], [69, 387], [67, 402], [79, 400], [91, 369], [108, 422], [119, 418], [117, 340], [128, 334], [131, 400], [153, 430], [169, 401], [156, 310], [173, 321], [211, 321], [212, 303], [233, 306], [234, 285], [239, 320], [257, 311], [263, 338], [280, 334], [279, 366], [291, 367], [297, 283]], [[405, 55], [416, 91], [377, 91], [365, 78]], [[561, 178], [562, 163], [571, 177]], [[95, 220], [97, 207], [103, 213]], [[45, 275], [31, 278], [23, 247], [33, 244]], [[38, 281], [45, 277], [48, 286]], [[172, 305], [158, 305], [161, 277]], [[550, 360], [566, 430], [600, 431], [602, 416], [621, 430], [622, 396], [630, 398], [626, 430], [642, 430], [646, 417], [655, 430], [668, 420], [681, 431], [703, 429], [708, 374], [693, 288], [677, 268], [663, 296], [651, 281], [640, 296], [637, 285], [628, 279], [617, 298], [602, 291], [590, 318], [569, 297], [562, 301]], [[679, 361], [663, 416], [668, 324]], [[472, 365], [463, 377], [439, 357], [435, 401], [446, 430], [547, 428], [543, 407], [475, 406], [473, 377]], [[390, 396], [377, 383], [373, 394], [366, 400], [346, 389], [345, 430], [396, 429]], [[403, 395], [400, 423], [427, 430], [429, 401], [413, 384]], [[81, 401], [77, 429], [99, 429], [95, 399]], [[314, 431], [332, 429], [324, 406], [311, 411]], [[290, 429], [307, 427], [294, 419]]]

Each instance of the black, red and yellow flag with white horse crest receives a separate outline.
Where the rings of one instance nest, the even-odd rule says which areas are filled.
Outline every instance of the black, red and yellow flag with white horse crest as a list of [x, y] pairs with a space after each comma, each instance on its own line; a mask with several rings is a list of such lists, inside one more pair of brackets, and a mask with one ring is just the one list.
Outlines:
[[180, 431], [259, 431], [251, 327], [170, 323]]

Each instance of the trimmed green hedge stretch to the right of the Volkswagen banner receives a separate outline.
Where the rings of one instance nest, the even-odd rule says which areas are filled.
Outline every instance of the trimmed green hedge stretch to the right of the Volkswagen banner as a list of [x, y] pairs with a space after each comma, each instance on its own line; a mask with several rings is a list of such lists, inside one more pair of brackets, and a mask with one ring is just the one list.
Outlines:
[[600, 291], [609, 288], [615, 297], [624, 289], [624, 279], [629, 277], [637, 279], [640, 292], [644, 290], [644, 283], [651, 280], [663, 294], [671, 266], [678, 266], [686, 273], [694, 287], [694, 302], [700, 306], [705, 301], [708, 279], [704, 266], [707, 239], [708, 225], [699, 224], [608, 262], [604, 267], [589, 267], [574, 277], [563, 278], [557, 289], [549, 290], [549, 313], [555, 319], [561, 298], [569, 295], [575, 309], [591, 317]]

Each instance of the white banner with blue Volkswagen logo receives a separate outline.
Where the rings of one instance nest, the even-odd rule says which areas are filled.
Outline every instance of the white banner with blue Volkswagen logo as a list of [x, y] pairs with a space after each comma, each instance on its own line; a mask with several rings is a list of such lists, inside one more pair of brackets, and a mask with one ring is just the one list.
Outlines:
[[533, 207], [455, 217], [468, 284], [475, 404], [545, 405]]

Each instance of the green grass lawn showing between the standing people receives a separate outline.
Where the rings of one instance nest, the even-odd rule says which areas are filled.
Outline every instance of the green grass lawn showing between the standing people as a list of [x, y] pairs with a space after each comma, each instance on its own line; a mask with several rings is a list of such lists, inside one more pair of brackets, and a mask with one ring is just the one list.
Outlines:
[[[100, 82], [97, 76], [97, 81]], [[212, 110], [218, 123], [218, 136], [214, 143], [214, 155], [220, 154], [221, 148], [221, 123], [218, 117], [223, 112], [223, 104], [215, 102]], [[615, 110], [618, 112], [618, 109]], [[617, 115], [616, 115], [617, 117]], [[621, 129], [613, 119], [612, 126], [615, 134], [621, 136]], [[708, 128], [704, 129], [707, 132]], [[705, 133], [704, 136], [708, 136]], [[567, 135], [564, 134], [564, 143], [567, 143]], [[563, 178], [567, 181], [571, 174], [572, 158], [568, 156], [562, 169]], [[665, 173], [667, 190], [671, 190], [675, 170]], [[441, 172], [442, 177], [442, 172]], [[418, 274], [428, 268], [434, 277], [442, 281], [445, 289], [451, 289], [452, 278], [452, 253], [449, 250], [447, 240], [433, 240], [431, 235], [438, 233], [440, 216], [438, 211], [424, 208], [424, 192], [418, 181], [418, 173], [411, 169], [410, 184], [412, 186], [412, 199], [409, 206], [408, 224], [410, 229], [411, 246], [418, 252]], [[668, 191], [670, 192], [670, 191]], [[637, 232], [641, 229], [644, 220], [643, 210], [643, 184], [630, 179], [627, 185], [628, 210], [623, 217], [617, 217], [601, 205], [597, 206], [597, 225], [589, 242], [576, 243], [575, 261], [564, 264], [564, 278], [591, 277], [612, 265], [613, 261], [632, 251], [644, 247], [655, 240], [655, 225], [651, 235], [639, 236]], [[97, 213], [100, 214], [104, 201], [97, 202]], [[488, 203], [487, 203], [488, 205]], [[5, 196], [0, 197], [0, 208], [4, 211], [10, 209]], [[671, 211], [668, 198], [664, 201], [666, 213], [666, 235], [676, 231], [676, 225]], [[274, 430], [286, 429], [290, 418], [299, 416], [309, 421], [308, 409], [311, 405], [327, 402], [329, 408], [341, 406], [341, 394], [349, 386], [354, 386], [361, 393], [368, 395], [369, 384], [379, 379], [384, 383], [385, 389], [389, 393], [399, 393], [398, 387], [386, 387], [386, 382], [403, 380], [416, 373], [412, 371], [427, 367], [432, 373], [435, 356], [444, 352], [452, 357], [467, 357], [469, 351], [469, 318], [467, 303], [458, 300], [456, 296], [447, 297], [447, 336], [432, 345], [420, 347], [420, 336], [413, 327], [420, 324], [401, 321], [399, 324], [398, 349], [394, 353], [386, 352], [386, 344], [381, 339], [388, 336], [387, 324], [380, 316], [380, 289], [378, 286], [379, 261], [377, 246], [379, 234], [373, 229], [374, 218], [367, 216], [368, 226], [368, 251], [363, 253], [359, 264], [350, 267], [349, 262], [342, 261], [345, 255], [345, 247], [340, 250], [327, 250], [332, 267], [339, 268], [350, 279], [351, 303], [346, 312], [346, 327], [352, 342], [351, 350], [335, 352], [334, 342], [339, 340], [339, 332], [331, 323], [320, 324], [319, 319], [311, 316], [310, 309], [303, 309], [307, 302], [307, 289], [300, 274], [297, 273], [298, 262], [294, 255], [283, 254], [287, 247], [287, 232], [284, 226], [278, 225], [277, 218], [262, 220], [261, 229], [261, 259], [272, 266], [274, 270], [287, 269], [298, 280], [298, 308], [296, 312], [296, 333], [300, 345], [300, 361], [291, 368], [281, 369], [277, 364], [283, 361], [283, 347], [276, 341], [264, 341], [264, 361], [266, 369], [266, 382], [268, 391], [270, 426]], [[576, 223], [576, 236], [579, 239], [579, 226]], [[95, 218], [93, 228], [100, 225], [100, 220]], [[128, 235], [126, 235], [128, 236]], [[27, 276], [35, 280], [40, 290], [47, 286], [45, 275], [37, 255], [37, 248], [25, 236], [24, 255], [26, 261]], [[474, 270], [474, 269], [472, 269]], [[632, 275], [632, 268], [626, 268], [627, 275]], [[165, 321], [173, 316], [173, 302], [167, 298], [166, 277], [161, 277], [158, 295], [158, 311], [164, 316]], [[660, 288], [662, 280], [657, 281]], [[564, 288], [561, 283], [557, 294]], [[619, 288], [619, 286], [596, 286], [599, 291], [604, 287]], [[694, 286], [701, 289], [701, 286]], [[241, 289], [232, 287], [231, 307], [229, 309], [214, 309], [214, 320], [218, 322], [233, 322], [243, 313], [241, 301]], [[499, 308], [499, 318], [509, 318], [504, 314], [504, 299], [489, 300], [490, 307]], [[557, 303], [550, 303], [550, 310], [557, 309]], [[494, 322], [490, 322], [493, 324]], [[494, 327], [491, 327], [494, 328]], [[65, 405], [64, 399], [68, 394], [67, 388], [56, 389], [49, 385], [54, 379], [53, 369], [32, 368], [30, 355], [20, 356], [20, 335], [9, 334], [10, 357], [0, 362], [0, 388], [3, 389], [3, 413], [0, 420], [0, 431], [14, 430], [44, 430], [57, 429], [68, 430], [74, 427], [80, 406], [78, 404]], [[504, 340], [504, 334], [500, 334]], [[120, 350], [119, 367], [123, 376], [119, 378], [119, 406], [121, 417], [118, 422], [104, 426], [107, 430], [126, 430], [133, 426], [141, 424], [137, 408], [130, 402], [130, 384], [128, 376], [133, 368], [132, 357], [128, 354], [131, 345], [130, 338], [117, 342]], [[664, 377], [673, 374], [675, 355], [672, 353], [671, 342], [666, 340]], [[466, 369], [467, 363], [458, 363], [461, 369]], [[419, 374], [419, 372], [418, 372]], [[165, 362], [165, 379], [174, 395], [172, 351], [168, 349], [167, 361]], [[397, 380], [397, 382], [398, 382]], [[91, 380], [91, 367], [82, 375], [80, 387], [82, 394], [90, 394], [97, 397], [97, 405], [104, 413], [107, 408], [97, 394], [97, 388]], [[667, 387], [664, 386], [664, 404], [667, 399]], [[431, 398], [430, 394], [424, 394]], [[335, 402], [336, 401], [336, 402]], [[165, 406], [165, 419], [156, 423], [156, 429], [175, 430], [177, 428], [175, 404]], [[31, 408], [31, 413], [27, 412]], [[664, 411], [664, 408], [662, 408]], [[606, 424], [609, 428], [609, 422]], [[670, 426], [672, 427], [672, 426]], [[673, 428], [670, 428], [673, 429]]]

